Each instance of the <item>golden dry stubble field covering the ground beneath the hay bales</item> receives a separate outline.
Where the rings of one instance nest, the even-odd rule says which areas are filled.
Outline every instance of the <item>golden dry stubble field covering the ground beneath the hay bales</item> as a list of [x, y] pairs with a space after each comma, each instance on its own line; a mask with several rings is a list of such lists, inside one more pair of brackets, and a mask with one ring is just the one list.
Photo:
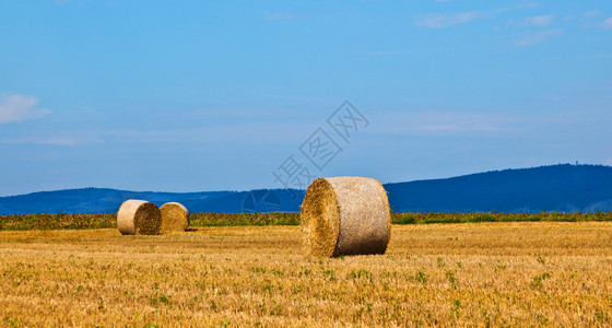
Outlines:
[[0, 232], [7, 326], [610, 326], [612, 224], [393, 226], [384, 256], [299, 227]]

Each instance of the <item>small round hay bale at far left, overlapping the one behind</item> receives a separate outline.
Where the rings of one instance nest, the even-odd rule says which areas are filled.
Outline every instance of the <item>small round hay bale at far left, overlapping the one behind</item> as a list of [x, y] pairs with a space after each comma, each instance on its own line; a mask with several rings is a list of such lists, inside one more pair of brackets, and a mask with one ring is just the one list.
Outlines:
[[161, 226], [160, 209], [149, 201], [126, 200], [117, 212], [117, 227], [122, 235], [156, 235]]

